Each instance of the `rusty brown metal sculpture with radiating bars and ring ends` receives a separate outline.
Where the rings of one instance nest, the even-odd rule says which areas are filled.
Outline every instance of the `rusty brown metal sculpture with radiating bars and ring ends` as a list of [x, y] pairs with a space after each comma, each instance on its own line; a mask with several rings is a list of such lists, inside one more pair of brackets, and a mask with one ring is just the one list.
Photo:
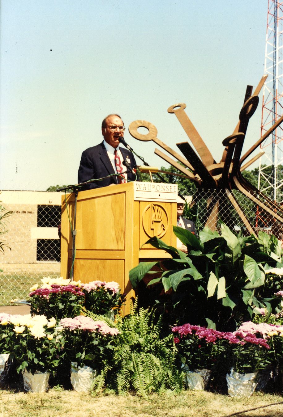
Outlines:
[[[225, 191], [230, 202], [240, 215], [241, 220], [251, 234], [255, 234], [255, 230], [246, 218], [243, 210], [240, 208], [240, 205], [233, 195], [233, 189], [238, 189], [254, 203], [258, 204], [258, 206], [270, 214], [274, 219], [283, 224], [282, 208], [261, 193], [255, 186], [250, 184], [241, 173], [241, 171], [256, 161], [256, 159], [260, 157], [261, 153], [252, 158], [248, 163], [245, 163], [245, 165], [243, 165], [243, 162], [283, 121], [283, 116], [281, 116], [278, 121], [276, 121], [276, 123], [274, 123], [274, 125], [243, 156], [241, 156], [248, 122], [258, 107], [258, 94], [260, 93], [266, 78], [267, 75], [264, 75], [261, 78], [253, 94], [253, 87], [248, 85], [245, 93], [244, 105], [240, 111], [238, 124], [232, 135], [222, 141], [225, 149], [219, 163], [216, 163], [213, 159], [209, 149], [205, 145], [205, 142], [202, 140], [195, 126], [185, 113], [184, 109], [186, 108], [186, 105], [184, 103], [174, 104], [173, 106], [170, 106], [167, 111], [168, 113], [174, 113], [177, 116], [198, 155], [188, 142], [177, 143], [177, 147], [182, 152], [184, 157], [179, 155], [157, 138], [157, 128], [152, 123], [145, 120], [136, 120], [129, 126], [129, 133], [131, 136], [139, 141], [154, 141], [157, 143], [157, 145], [167, 151], [167, 153], [174, 156], [177, 161], [181, 162], [185, 168], [162, 151], [159, 151], [159, 149], [155, 149], [154, 153], [156, 155], [160, 156], [164, 159], [164, 161], [177, 168], [182, 172], [182, 174], [187, 176], [187, 178], [196, 181], [201, 188], [209, 190], [210, 197], [207, 199], [208, 215], [205, 225], [210, 227], [212, 230], [215, 230], [217, 225], [218, 210], [220, 205], [220, 196], [219, 193], [216, 192], [218, 190]], [[145, 135], [139, 133], [138, 128], [140, 127], [147, 128], [149, 133]]]

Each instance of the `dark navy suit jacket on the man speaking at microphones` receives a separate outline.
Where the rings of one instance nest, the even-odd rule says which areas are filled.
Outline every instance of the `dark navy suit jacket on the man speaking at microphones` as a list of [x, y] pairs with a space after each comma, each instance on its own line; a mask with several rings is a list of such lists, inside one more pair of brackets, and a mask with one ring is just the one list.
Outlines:
[[[130, 163], [131, 168], [136, 168], [136, 161], [134, 159], [133, 154], [130, 151], [128, 151], [128, 149], [122, 148], [120, 146], [119, 149], [122, 153], [124, 161], [127, 160]], [[99, 145], [92, 146], [91, 148], [88, 148], [85, 151], [83, 151], [81, 155], [80, 166], [78, 168], [78, 183], [82, 183], [90, 179], [106, 177], [109, 174], [114, 173], [114, 168], [107, 155], [107, 151], [103, 142], [99, 143]], [[135, 179], [136, 177], [134, 176], [134, 174], [128, 172], [128, 180], [134, 181]], [[95, 181], [93, 183], [87, 184], [86, 186], [83, 186], [83, 188], [81, 189], [90, 190], [91, 188], [106, 187], [110, 184], [118, 184], [118, 177], [111, 176], [109, 178], [105, 178], [102, 181]]]

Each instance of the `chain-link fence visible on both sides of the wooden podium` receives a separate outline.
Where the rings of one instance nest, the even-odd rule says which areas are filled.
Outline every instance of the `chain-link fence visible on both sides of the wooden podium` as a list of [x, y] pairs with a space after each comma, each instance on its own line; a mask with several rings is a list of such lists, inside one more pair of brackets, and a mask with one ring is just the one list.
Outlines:
[[[182, 195], [193, 196], [193, 204], [185, 208], [184, 216], [195, 222], [197, 231], [204, 226], [219, 231], [222, 221], [234, 233], [264, 230], [278, 239], [283, 238], [283, 225], [262, 210], [252, 195], [246, 196], [237, 190], [184, 187]], [[30, 287], [44, 276], [60, 276], [61, 194], [2, 191], [0, 200], [5, 209], [11, 211], [5, 220], [8, 231], [1, 239], [11, 248], [0, 254], [3, 270], [0, 272], [0, 305], [3, 306], [9, 305], [11, 299], [26, 299]]]

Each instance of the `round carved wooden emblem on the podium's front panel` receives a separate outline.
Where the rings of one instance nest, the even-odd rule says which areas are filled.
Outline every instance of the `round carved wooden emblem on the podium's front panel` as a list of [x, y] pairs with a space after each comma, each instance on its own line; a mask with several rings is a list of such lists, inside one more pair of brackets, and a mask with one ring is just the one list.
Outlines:
[[164, 236], [168, 229], [168, 216], [164, 208], [159, 204], [149, 204], [142, 214], [142, 226], [149, 237]]

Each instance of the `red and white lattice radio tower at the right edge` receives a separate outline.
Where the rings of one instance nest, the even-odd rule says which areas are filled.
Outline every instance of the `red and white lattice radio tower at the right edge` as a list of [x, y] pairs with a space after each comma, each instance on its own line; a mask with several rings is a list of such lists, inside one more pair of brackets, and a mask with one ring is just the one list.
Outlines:
[[[268, 0], [265, 43], [265, 74], [263, 88], [261, 136], [283, 114], [283, 2]], [[258, 188], [274, 201], [283, 201], [283, 127], [279, 126], [261, 144], [265, 154], [260, 158]], [[279, 175], [280, 174], [280, 175]]]

